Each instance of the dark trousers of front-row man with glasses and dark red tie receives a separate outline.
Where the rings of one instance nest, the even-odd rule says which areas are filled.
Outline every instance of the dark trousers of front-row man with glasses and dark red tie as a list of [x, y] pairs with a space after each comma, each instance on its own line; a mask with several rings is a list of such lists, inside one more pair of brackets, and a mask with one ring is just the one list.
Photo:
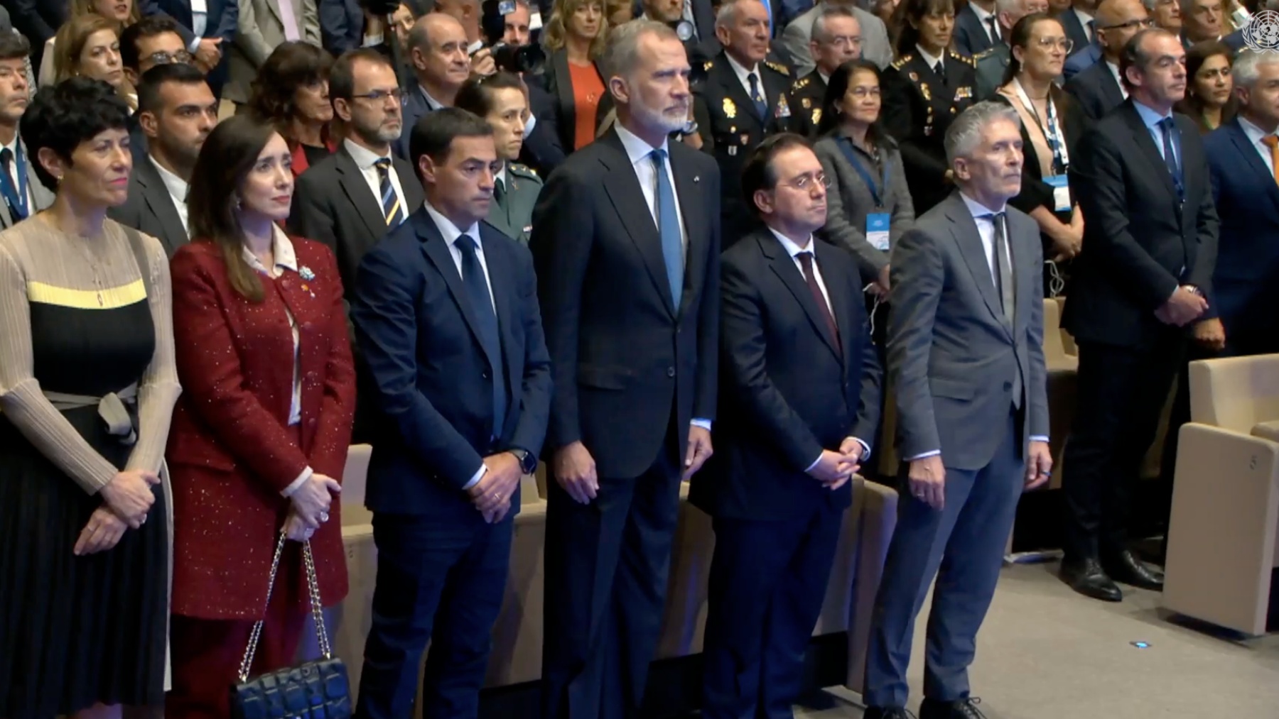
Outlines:
[[702, 716], [793, 716], [843, 517], [822, 502], [792, 520], [715, 520]]

